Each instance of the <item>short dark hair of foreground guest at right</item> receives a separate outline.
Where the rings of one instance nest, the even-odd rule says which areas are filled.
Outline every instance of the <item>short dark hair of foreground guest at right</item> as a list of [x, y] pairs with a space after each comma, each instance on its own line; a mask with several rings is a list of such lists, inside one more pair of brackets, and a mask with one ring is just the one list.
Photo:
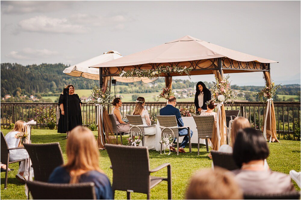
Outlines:
[[233, 158], [238, 167], [251, 160], [264, 160], [268, 154], [267, 142], [260, 131], [252, 128], [238, 131], [233, 147]]

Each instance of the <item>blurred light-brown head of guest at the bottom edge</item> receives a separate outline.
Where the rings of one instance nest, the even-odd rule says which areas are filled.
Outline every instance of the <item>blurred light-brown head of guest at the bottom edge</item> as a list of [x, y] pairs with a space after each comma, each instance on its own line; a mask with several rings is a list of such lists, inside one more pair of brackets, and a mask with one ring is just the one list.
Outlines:
[[243, 192], [231, 172], [217, 167], [195, 173], [188, 185], [186, 199], [243, 199]]

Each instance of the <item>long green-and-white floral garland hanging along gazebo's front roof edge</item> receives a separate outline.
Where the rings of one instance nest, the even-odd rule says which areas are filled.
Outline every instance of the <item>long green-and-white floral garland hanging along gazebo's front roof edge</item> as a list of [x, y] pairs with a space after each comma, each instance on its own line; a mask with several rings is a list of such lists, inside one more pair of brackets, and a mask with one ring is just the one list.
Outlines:
[[161, 74], [171, 74], [171, 73], [178, 73], [178, 74], [187, 74], [187, 76], [190, 79], [190, 71], [192, 70], [191, 67], [178, 67], [178, 66], [166, 66], [161, 65], [157, 67], [156, 69], [132, 69], [127, 71], [121, 71], [119, 72], [120, 77], [148, 77], [150, 79], [154, 79]]

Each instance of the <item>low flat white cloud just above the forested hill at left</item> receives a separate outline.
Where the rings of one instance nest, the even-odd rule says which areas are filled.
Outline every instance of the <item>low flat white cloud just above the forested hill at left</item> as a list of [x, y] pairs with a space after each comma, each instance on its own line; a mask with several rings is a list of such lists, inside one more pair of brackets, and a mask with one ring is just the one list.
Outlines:
[[32, 49], [32, 48], [24, 48], [23, 50], [19, 51], [11, 51], [7, 55], [8, 58], [17, 59], [17, 60], [28, 60], [37, 57], [47, 58], [50, 56], [57, 55], [57, 51], [51, 51], [48, 49]]

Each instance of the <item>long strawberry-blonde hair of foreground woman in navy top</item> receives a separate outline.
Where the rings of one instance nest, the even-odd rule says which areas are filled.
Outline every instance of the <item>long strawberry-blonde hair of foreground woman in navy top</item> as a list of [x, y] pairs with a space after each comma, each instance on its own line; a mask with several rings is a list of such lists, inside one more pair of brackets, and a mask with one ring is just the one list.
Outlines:
[[[64, 167], [71, 174], [71, 182], [77, 181], [77, 171], [84, 170], [97, 170], [101, 171], [99, 168], [99, 152], [96, 146], [95, 136], [92, 131], [86, 127], [77, 126], [72, 129], [66, 146], [66, 153], [68, 162]], [[72, 175], [74, 175], [75, 180], [73, 180]]]

